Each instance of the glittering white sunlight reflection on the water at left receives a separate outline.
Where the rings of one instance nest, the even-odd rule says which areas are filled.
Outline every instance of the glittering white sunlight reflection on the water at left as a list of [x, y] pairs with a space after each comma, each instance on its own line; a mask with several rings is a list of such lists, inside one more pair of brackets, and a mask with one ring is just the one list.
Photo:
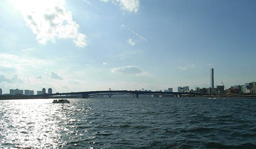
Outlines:
[[66, 112], [72, 106], [51, 102], [52, 100], [2, 101], [1, 144], [16, 144], [15, 147], [18, 148], [57, 148], [65, 144], [60, 137], [63, 133], [69, 133], [69, 130], [58, 125], [67, 121]]

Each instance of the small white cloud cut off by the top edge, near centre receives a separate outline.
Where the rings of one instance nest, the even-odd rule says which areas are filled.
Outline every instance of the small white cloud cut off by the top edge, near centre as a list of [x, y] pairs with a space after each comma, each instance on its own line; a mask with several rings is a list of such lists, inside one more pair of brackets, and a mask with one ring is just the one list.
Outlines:
[[[100, 0], [102, 2], [109, 2], [109, 0]], [[128, 11], [128, 12], [137, 12], [140, 7], [140, 1], [139, 0], [112, 0], [112, 4], [119, 3], [119, 6], [122, 10]]]

